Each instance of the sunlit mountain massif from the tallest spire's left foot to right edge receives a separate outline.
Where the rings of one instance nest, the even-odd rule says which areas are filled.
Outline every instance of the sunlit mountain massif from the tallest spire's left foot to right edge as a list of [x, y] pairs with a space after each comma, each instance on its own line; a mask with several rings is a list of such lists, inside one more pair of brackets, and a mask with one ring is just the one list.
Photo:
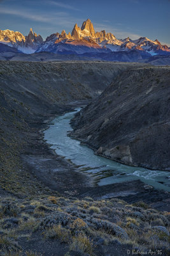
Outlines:
[[118, 52], [118, 51], [146, 51], [151, 55], [157, 54], [157, 51], [167, 51], [170, 49], [167, 45], [161, 45], [158, 40], [150, 40], [141, 37], [137, 40], [131, 40], [129, 37], [118, 40], [112, 33], [106, 31], [95, 32], [90, 19], [83, 22], [81, 28], [78, 24], [74, 25], [73, 31], [66, 34], [55, 33], [48, 36], [37, 52], [47, 51], [55, 53], [76, 52], [83, 54], [85, 52]]

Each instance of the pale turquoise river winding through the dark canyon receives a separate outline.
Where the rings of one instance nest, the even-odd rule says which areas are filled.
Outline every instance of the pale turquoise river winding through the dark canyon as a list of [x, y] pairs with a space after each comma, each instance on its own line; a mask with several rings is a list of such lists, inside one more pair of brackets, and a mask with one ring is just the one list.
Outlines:
[[58, 155], [70, 159], [72, 163], [79, 166], [78, 170], [81, 172], [95, 176], [99, 186], [140, 179], [154, 188], [170, 191], [169, 172], [127, 166], [96, 156], [92, 149], [67, 136], [67, 132], [72, 131], [69, 122], [77, 111], [80, 109], [57, 116], [50, 127], [44, 131], [46, 143], [49, 143]]

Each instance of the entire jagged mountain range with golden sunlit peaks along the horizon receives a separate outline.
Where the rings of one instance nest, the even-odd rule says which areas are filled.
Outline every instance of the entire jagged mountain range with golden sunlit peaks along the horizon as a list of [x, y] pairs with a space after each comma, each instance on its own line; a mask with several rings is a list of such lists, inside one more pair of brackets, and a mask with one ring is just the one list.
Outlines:
[[123, 61], [143, 61], [152, 56], [170, 56], [170, 48], [160, 44], [157, 39], [153, 41], [141, 37], [131, 40], [128, 37], [119, 40], [105, 30], [96, 32], [90, 19], [84, 21], [81, 28], [75, 24], [71, 33], [67, 34], [62, 30], [62, 33], [48, 36], [45, 41], [41, 35], [33, 33], [32, 29], [27, 36], [9, 29], [0, 30], [0, 52], [4, 54], [4, 52], [13, 52], [14, 49], [24, 54], [53, 52], [110, 61], [122, 61], [122, 56]]

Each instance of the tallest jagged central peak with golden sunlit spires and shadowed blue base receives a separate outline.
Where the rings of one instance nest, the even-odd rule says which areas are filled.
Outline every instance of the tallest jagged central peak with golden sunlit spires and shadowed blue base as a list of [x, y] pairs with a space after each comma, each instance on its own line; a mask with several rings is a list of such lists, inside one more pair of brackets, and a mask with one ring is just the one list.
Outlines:
[[76, 53], [83, 54], [86, 52], [108, 52], [103, 45], [97, 44], [97, 37], [92, 22], [88, 19], [83, 22], [81, 28], [74, 25], [71, 33], [55, 33], [48, 36], [43, 44], [40, 45], [36, 52], [55, 52], [55, 53]]

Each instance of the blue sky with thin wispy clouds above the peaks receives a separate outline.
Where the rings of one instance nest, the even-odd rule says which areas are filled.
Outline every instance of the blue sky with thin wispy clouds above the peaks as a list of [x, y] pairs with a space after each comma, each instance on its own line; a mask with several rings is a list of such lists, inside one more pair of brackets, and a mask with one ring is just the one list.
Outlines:
[[43, 36], [90, 19], [117, 38], [146, 36], [170, 47], [170, 0], [0, 0], [0, 29]]

